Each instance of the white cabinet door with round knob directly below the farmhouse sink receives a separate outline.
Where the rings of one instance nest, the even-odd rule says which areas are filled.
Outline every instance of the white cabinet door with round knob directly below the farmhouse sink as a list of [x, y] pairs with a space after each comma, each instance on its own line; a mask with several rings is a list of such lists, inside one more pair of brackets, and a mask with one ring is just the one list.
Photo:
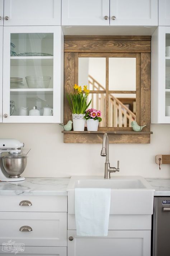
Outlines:
[[67, 256], [151, 255], [150, 230], [109, 230], [107, 237], [80, 237], [68, 230], [67, 237]]

